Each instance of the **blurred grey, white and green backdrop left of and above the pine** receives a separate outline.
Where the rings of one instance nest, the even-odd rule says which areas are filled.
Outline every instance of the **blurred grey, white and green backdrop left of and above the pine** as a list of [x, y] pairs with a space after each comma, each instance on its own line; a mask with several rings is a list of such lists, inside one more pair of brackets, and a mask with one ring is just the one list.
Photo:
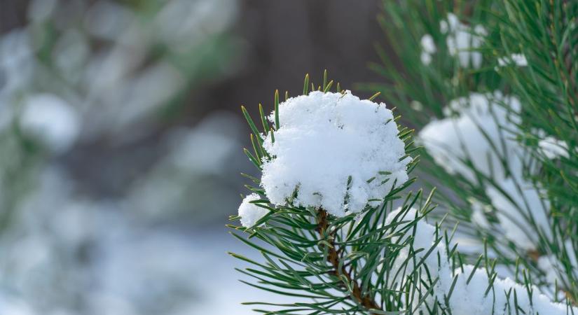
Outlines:
[[379, 80], [378, 2], [0, 0], [0, 314], [251, 314], [240, 105]]

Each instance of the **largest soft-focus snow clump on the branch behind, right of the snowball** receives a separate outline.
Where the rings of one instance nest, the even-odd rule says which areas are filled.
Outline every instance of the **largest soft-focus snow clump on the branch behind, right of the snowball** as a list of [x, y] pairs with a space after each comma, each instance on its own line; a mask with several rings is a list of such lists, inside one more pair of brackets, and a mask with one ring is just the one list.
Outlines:
[[[516, 115], [508, 113], [500, 106], [504, 102], [513, 112], [520, 110], [516, 97], [504, 97], [494, 94], [471, 93], [451, 101], [444, 113], [447, 118], [432, 120], [419, 133], [427, 152], [437, 164], [450, 174], [461, 174], [468, 181], [475, 182], [476, 174], [463, 162], [471, 160], [472, 165], [486, 176], [498, 176], [503, 179], [506, 172], [500, 162], [500, 156], [507, 155], [511, 162], [518, 165], [520, 155], [518, 143], [502, 127], [514, 127], [518, 122]], [[495, 119], [496, 118], [496, 119]], [[506, 151], [502, 146], [495, 150], [488, 144], [486, 136], [495, 144], [504, 139]]]

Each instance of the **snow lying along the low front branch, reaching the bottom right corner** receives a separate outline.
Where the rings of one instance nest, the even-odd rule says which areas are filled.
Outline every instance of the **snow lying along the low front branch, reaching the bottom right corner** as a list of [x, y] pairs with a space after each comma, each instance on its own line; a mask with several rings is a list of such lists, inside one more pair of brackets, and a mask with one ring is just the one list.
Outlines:
[[[400, 215], [401, 208], [388, 214], [386, 224], [412, 220], [416, 216], [415, 209], [410, 209]], [[425, 219], [399, 224], [397, 230], [403, 230], [406, 225], [414, 224], [412, 233], [404, 237], [413, 237], [413, 246], [405, 246], [394, 261], [394, 269], [405, 269], [407, 274], [413, 274], [413, 263], [407, 263], [408, 257], [415, 255], [413, 260], [423, 260], [423, 268], [427, 272], [421, 273], [422, 282], [434, 282], [432, 294], [425, 303], [420, 304], [420, 296], [424, 292], [416, 292], [413, 304], [407, 305], [412, 310], [421, 310], [441, 307], [449, 309], [448, 314], [469, 315], [502, 315], [502, 314], [548, 314], [566, 315], [577, 314], [578, 308], [567, 307], [565, 304], [551, 302], [540, 293], [539, 289], [518, 284], [509, 278], [500, 279], [493, 272], [474, 265], [458, 264], [452, 267], [448, 257], [448, 247], [443, 241], [436, 241], [436, 227], [425, 222]], [[439, 231], [437, 231], [439, 232]], [[432, 247], [433, 246], [433, 247]], [[453, 248], [450, 241], [449, 247]], [[420, 249], [423, 249], [420, 251]], [[433, 248], [430, 251], [430, 248]], [[420, 266], [420, 267], [421, 267]], [[488, 276], [489, 274], [489, 276]], [[432, 281], [432, 279], [437, 279]], [[412, 299], [408, 299], [412, 300]], [[434, 306], [434, 304], [436, 304]]]

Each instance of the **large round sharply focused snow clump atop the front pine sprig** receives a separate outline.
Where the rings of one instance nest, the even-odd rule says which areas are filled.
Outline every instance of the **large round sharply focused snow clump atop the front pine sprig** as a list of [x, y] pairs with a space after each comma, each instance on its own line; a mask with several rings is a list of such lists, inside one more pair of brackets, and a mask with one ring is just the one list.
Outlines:
[[[264, 148], [261, 185], [273, 204], [322, 207], [334, 216], [376, 206], [408, 179], [404, 142], [385, 104], [351, 92], [311, 92], [279, 106], [275, 143]], [[275, 120], [272, 113], [271, 122]], [[385, 173], [387, 172], [387, 173]], [[351, 182], [348, 185], [348, 179]], [[297, 196], [291, 200], [294, 192]]]

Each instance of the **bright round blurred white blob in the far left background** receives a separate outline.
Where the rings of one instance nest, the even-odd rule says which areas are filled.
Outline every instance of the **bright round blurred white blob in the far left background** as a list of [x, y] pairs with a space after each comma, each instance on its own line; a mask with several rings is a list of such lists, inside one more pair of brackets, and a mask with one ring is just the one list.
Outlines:
[[35, 94], [27, 99], [20, 125], [55, 153], [66, 151], [78, 137], [80, 119], [67, 102], [54, 94]]

